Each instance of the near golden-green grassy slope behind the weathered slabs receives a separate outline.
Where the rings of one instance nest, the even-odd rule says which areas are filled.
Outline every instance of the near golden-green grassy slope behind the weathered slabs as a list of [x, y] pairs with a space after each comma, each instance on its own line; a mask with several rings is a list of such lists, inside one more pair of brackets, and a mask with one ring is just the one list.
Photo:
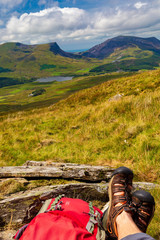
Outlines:
[[[117, 93], [118, 101], [109, 101]], [[1, 117], [0, 165], [28, 159], [125, 165], [135, 179], [160, 180], [160, 71], [118, 78], [45, 109]], [[159, 239], [160, 200], [148, 233]]]

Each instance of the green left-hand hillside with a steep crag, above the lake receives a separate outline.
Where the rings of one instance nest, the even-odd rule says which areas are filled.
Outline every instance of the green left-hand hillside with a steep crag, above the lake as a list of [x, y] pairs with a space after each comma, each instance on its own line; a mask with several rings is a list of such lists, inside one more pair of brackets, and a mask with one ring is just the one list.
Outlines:
[[57, 75], [83, 75], [93, 66], [97, 66], [98, 60], [76, 59], [54, 54], [49, 44], [21, 45], [18, 43], [6, 43], [0, 45], [0, 84], [3, 78], [7, 83], [0, 87], [13, 85], [12, 82], [25, 83], [34, 81], [40, 77]]

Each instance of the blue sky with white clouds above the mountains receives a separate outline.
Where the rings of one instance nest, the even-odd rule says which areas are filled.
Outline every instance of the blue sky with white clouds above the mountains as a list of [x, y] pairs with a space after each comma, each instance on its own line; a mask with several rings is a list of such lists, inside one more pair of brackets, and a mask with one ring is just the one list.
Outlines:
[[0, 0], [0, 44], [89, 49], [119, 35], [160, 39], [160, 0]]

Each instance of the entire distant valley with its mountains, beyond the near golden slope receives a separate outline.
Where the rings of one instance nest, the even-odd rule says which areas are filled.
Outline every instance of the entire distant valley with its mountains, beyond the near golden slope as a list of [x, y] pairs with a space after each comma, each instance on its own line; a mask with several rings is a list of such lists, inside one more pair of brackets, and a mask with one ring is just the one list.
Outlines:
[[[56, 42], [0, 45], [0, 115], [50, 106], [70, 94], [138, 71], [159, 69], [160, 41], [119, 36], [87, 51], [67, 53]], [[73, 77], [66, 82], [37, 79]], [[43, 89], [43, 94], [31, 97]]]

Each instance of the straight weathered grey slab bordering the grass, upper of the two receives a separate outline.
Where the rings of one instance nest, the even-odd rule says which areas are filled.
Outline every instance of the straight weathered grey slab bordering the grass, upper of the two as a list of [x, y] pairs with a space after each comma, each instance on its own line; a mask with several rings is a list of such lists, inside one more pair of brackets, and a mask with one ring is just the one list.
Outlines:
[[102, 166], [31, 161], [23, 166], [1, 167], [0, 178], [63, 178], [100, 182], [108, 181], [113, 170]]

